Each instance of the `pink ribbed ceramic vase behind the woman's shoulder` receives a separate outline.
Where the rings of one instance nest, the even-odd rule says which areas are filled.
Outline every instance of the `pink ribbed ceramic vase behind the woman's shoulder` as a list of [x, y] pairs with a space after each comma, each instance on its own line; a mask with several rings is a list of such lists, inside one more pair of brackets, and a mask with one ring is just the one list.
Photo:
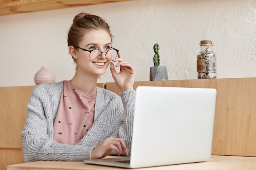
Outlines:
[[46, 66], [43, 66], [34, 76], [36, 85], [55, 82], [55, 75]]

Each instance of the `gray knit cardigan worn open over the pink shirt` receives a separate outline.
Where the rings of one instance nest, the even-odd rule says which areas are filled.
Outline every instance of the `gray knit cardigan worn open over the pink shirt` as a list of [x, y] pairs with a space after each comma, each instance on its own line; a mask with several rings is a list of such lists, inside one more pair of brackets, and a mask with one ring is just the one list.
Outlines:
[[[40, 84], [34, 88], [27, 104], [27, 118], [22, 136], [26, 162], [83, 161], [91, 159], [93, 148], [107, 137], [122, 137], [131, 150], [135, 91], [121, 97], [97, 87], [94, 124], [77, 145], [60, 144], [53, 140], [53, 124], [63, 90], [63, 82]], [[110, 155], [115, 155], [113, 151]]]

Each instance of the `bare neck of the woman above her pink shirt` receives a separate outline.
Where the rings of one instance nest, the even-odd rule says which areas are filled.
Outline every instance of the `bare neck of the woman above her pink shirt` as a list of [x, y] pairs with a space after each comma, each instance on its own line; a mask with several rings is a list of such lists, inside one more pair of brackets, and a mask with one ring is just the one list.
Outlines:
[[90, 77], [85, 75], [75, 74], [70, 82], [79, 90], [87, 94], [95, 94], [97, 91], [98, 77]]

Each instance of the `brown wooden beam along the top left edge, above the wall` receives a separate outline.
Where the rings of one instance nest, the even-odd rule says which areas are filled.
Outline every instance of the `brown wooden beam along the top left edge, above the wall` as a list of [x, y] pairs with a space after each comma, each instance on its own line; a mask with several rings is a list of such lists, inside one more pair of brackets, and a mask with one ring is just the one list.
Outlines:
[[0, 15], [45, 11], [128, 0], [0, 0]]

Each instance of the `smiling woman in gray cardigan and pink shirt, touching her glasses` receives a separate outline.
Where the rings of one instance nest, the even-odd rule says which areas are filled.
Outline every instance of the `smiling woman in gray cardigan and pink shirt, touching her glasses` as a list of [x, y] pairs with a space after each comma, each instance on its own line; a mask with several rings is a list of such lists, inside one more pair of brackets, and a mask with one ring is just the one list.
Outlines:
[[[25, 161], [128, 156], [134, 115], [134, 67], [112, 47], [109, 26], [96, 15], [76, 15], [67, 42], [76, 73], [70, 81], [40, 84], [31, 93], [22, 132]], [[111, 61], [117, 62], [119, 73]], [[109, 64], [120, 97], [96, 86]]]

